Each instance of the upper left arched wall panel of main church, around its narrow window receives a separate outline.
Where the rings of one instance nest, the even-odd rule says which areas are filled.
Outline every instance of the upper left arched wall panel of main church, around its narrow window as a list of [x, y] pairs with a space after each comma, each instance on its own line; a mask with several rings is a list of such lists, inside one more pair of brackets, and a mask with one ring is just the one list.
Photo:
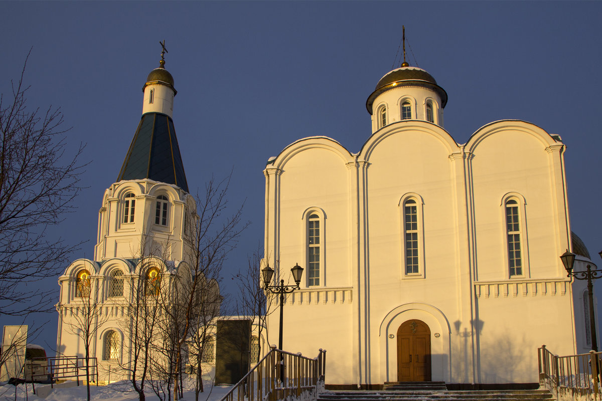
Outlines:
[[350, 286], [349, 271], [349, 187], [344, 161], [324, 148], [297, 153], [283, 167], [279, 194], [283, 204], [279, 213], [280, 254], [267, 255], [270, 265], [279, 260], [285, 283], [292, 282], [290, 269], [299, 263], [305, 268], [301, 287], [307, 287], [307, 219], [315, 210], [323, 220], [324, 244], [321, 248], [321, 277], [318, 287]]

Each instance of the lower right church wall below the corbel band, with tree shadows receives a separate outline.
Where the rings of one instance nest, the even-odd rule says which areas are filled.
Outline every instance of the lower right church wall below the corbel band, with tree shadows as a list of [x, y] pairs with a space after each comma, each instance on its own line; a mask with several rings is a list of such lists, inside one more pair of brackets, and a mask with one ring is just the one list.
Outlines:
[[547, 287], [545, 294], [527, 285], [518, 293], [477, 298], [479, 382], [538, 382], [537, 349], [543, 344], [556, 355], [574, 355], [570, 284]]

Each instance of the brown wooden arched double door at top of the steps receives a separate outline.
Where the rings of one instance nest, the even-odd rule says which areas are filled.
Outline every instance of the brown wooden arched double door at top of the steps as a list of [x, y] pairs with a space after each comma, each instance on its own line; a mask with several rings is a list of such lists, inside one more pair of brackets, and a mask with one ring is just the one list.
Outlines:
[[407, 320], [397, 329], [397, 381], [430, 381], [430, 329], [422, 320]]

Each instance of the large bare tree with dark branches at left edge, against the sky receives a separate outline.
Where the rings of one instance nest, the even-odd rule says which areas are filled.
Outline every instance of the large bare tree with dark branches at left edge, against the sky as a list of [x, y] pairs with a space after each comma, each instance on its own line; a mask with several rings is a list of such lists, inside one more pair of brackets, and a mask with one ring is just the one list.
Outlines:
[[46, 228], [74, 208], [84, 146], [67, 152], [60, 109], [29, 108], [26, 63], [10, 96], [0, 95], [0, 316], [49, 311], [55, 290], [31, 282], [58, 273], [77, 246], [49, 240]]

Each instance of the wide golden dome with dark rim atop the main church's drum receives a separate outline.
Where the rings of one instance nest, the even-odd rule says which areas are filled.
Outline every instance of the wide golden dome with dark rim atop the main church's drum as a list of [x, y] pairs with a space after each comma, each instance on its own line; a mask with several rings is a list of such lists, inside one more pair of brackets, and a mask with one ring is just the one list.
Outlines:
[[374, 92], [366, 101], [366, 108], [368, 109], [368, 112], [372, 114], [372, 105], [374, 103], [374, 99], [376, 99], [379, 94], [391, 88], [402, 87], [404, 85], [429, 88], [430, 90], [435, 91], [439, 97], [441, 97], [442, 108], [444, 108], [447, 104], [447, 93], [443, 88], [437, 85], [437, 81], [435, 81], [435, 78], [433, 78], [432, 75], [421, 68], [411, 67], [408, 63], [403, 63], [402, 67], [388, 72], [385, 76], [380, 78], [380, 81], [378, 81], [378, 84], [376, 84], [376, 90], [374, 90]]

